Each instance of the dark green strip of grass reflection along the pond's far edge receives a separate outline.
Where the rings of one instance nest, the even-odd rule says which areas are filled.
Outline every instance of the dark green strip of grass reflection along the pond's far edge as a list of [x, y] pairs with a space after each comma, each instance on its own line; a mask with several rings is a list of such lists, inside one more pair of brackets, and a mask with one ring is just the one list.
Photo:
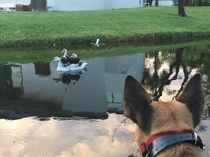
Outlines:
[[[154, 46], [138, 46], [138, 45], [120, 45], [120, 46], [105, 46], [105, 47], [66, 47], [69, 51], [68, 54], [76, 53], [80, 59], [84, 60], [92, 57], [109, 57], [109, 56], [119, 56], [126, 54], [135, 54], [135, 53], [146, 53], [153, 52], [154, 50], [170, 51], [175, 52], [177, 48], [187, 47], [192, 48], [189, 50], [189, 53], [196, 50], [198, 53], [199, 47], [207, 49], [210, 51], [209, 41], [194, 41], [189, 43], [180, 43], [180, 44], [170, 44], [170, 45], [154, 45]], [[50, 62], [54, 56], [62, 56], [61, 54], [62, 47], [30, 47], [30, 48], [4, 48], [0, 51], [0, 64], [5, 62], [13, 63], [33, 63], [33, 62]], [[187, 54], [190, 56], [190, 54]]]

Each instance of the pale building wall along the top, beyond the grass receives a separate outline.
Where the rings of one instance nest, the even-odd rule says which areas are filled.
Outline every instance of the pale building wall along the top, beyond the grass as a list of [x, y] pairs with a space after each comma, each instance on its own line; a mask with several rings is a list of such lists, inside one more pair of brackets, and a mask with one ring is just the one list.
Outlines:
[[47, 11], [83, 11], [144, 7], [145, 0], [1, 0], [0, 8], [11, 9], [16, 4], [32, 4], [32, 9], [44, 5]]

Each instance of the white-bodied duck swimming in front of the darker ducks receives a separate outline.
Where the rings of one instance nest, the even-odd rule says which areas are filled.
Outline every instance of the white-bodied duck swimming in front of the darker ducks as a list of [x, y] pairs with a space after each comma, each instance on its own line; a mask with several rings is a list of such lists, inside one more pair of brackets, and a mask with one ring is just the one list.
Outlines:
[[70, 64], [68, 66], [63, 66], [63, 63], [61, 62], [61, 58], [57, 56], [52, 60], [52, 62], [58, 62], [57, 71], [60, 71], [60, 72], [67, 72], [67, 71], [80, 72], [83, 69], [85, 69], [86, 65], [88, 64], [85, 61], [80, 61], [77, 64]]

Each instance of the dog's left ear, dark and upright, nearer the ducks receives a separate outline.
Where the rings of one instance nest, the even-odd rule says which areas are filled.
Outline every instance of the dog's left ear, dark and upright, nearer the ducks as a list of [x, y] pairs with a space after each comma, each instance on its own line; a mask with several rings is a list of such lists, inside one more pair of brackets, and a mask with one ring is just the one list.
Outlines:
[[141, 84], [132, 76], [127, 76], [124, 84], [124, 115], [142, 129], [148, 129], [152, 117], [151, 102], [152, 99]]

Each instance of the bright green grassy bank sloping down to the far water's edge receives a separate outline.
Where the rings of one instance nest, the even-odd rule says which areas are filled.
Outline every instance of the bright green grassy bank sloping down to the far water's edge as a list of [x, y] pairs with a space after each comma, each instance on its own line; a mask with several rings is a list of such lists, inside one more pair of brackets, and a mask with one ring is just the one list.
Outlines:
[[158, 42], [210, 37], [210, 7], [177, 7], [78, 12], [2, 12], [0, 47]]

